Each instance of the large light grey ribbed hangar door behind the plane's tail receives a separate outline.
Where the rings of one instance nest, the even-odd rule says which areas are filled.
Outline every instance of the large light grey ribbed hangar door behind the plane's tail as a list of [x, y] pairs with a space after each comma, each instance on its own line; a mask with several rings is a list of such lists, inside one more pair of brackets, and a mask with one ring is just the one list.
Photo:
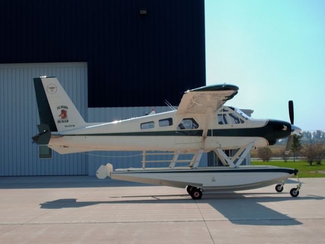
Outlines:
[[56, 76], [87, 121], [87, 63], [0, 64], [0, 176], [88, 175], [83, 154], [39, 159], [40, 124], [32, 78]]

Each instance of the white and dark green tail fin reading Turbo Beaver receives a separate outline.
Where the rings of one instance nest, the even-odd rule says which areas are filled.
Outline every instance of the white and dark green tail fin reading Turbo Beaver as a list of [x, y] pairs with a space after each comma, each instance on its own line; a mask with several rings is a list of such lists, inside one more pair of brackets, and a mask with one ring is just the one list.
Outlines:
[[60, 132], [87, 126], [56, 77], [34, 78], [41, 124]]

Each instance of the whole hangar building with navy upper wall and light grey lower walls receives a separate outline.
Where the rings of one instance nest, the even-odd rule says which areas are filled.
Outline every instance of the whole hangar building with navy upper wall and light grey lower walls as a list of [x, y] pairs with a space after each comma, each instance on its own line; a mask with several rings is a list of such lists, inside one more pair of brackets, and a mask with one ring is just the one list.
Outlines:
[[56, 76], [88, 122], [167, 111], [206, 83], [203, 0], [8, 0], [0, 29], [0, 176], [140, 166], [119, 158], [137, 152], [39, 152], [34, 77]]

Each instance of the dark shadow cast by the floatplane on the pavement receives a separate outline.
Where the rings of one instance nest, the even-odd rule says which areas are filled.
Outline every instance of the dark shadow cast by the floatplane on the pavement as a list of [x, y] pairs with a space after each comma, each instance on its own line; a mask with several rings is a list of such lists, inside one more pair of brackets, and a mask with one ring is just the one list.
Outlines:
[[[247, 195], [247, 197], [246, 197]], [[252, 196], [254, 195], [254, 196]], [[170, 198], [174, 197], [174, 198]], [[177, 198], [175, 198], [177, 197]], [[127, 199], [126, 199], [127, 198]], [[137, 199], [133, 199], [137, 198]], [[145, 198], [145, 199], [141, 199]], [[148, 199], [149, 198], [149, 199]], [[161, 199], [162, 198], [162, 199]], [[169, 198], [169, 199], [166, 199]], [[197, 203], [209, 204], [217, 212], [223, 215], [226, 219], [236, 225], [264, 225], [264, 226], [290, 226], [301, 225], [298, 220], [282, 214], [279, 211], [271, 209], [263, 203], [292, 201], [294, 205], [297, 200], [323, 200], [324, 197], [320, 196], [305, 196], [292, 198], [290, 196], [283, 197], [270, 197], [259, 196], [255, 194], [239, 194], [239, 193], [226, 193], [226, 194], [206, 194], [203, 199], [194, 201], [189, 195], [151, 195], [151, 196], [124, 196], [112, 197], [109, 201], [77, 201], [77, 199], [58, 199], [41, 203], [41, 208], [46, 209], [60, 209], [60, 208], [79, 208], [96, 204], [155, 204], [155, 203]], [[204, 216], [204, 220], [213, 221], [212, 216]]]

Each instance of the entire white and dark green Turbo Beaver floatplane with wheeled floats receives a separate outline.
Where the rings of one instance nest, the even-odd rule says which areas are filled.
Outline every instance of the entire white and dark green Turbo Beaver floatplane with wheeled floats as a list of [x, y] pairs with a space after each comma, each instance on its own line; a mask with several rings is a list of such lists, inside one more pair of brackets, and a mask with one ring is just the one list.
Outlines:
[[[287, 138], [286, 150], [294, 134], [301, 129], [294, 125], [293, 102], [289, 101], [290, 123], [274, 119], [248, 117], [240, 109], [224, 106], [238, 93], [231, 84], [217, 84], [187, 90], [177, 109], [163, 113], [113, 121], [86, 123], [55, 77], [34, 78], [41, 124], [32, 139], [59, 154], [95, 150], [143, 151], [142, 168], [113, 169], [102, 165], [96, 175], [146, 184], [186, 188], [193, 199], [202, 192], [240, 191], [276, 185], [282, 192], [284, 180], [298, 170], [274, 166], [241, 166], [252, 147], [276, 143]], [[234, 157], [225, 149], [237, 149]], [[165, 151], [155, 153], [150, 151]], [[223, 167], [199, 167], [202, 154], [214, 151]], [[180, 160], [192, 154], [190, 160]], [[149, 155], [172, 155], [166, 168], [148, 168]], [[155, 161], [161, 162], [161, 161]], [[188, 165], [177, 166], [187, 162]], [[297, 176], [298, 178], [298, 176]], [[299, 179], [298, 179], [299, 181]], [[301, 183], [290, 191], [297, 197]]]

